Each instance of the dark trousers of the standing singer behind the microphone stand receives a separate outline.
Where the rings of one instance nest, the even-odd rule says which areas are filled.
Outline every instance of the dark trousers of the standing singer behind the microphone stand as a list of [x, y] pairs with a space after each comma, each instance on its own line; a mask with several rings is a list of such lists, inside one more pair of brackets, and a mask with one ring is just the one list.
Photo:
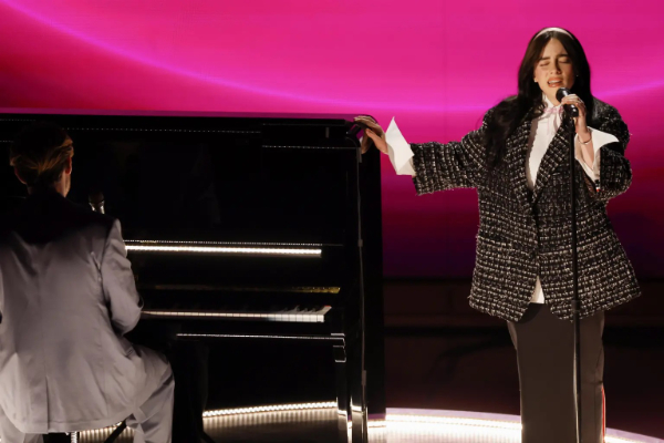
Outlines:
[[[530, 303], [518, 322], [508, 321], [519, 365], [522, 443], [573, 443], [575, 406], [573, 326]], [[581, 398], [584, 443], [604, 433], [604, 312], [581, 320]]]

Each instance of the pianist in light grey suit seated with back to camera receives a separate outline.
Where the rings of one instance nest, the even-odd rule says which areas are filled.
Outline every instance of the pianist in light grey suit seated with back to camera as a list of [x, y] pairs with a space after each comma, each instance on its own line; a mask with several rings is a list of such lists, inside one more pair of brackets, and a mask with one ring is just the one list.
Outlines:
[[134, 442], [168, 443], [170, 365], [124, 338], [141, 299], [120, 222], [65, 198], [73, 154], [46, 122], [10, 147], [29, 195], [0, 220], [0, 437], [39, 442], [126, 419]]

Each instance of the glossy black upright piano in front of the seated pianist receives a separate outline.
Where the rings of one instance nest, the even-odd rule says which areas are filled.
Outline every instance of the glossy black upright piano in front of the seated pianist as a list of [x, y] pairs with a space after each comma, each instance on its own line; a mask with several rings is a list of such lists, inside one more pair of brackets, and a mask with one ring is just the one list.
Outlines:
[[[349, 425], [366, 441], [367, 414], [385, 412], [380, 155], [361, 155], [352, 116], [6, 113], [0, 148], [34, 120], [74, 141], [69, 198], [101, 192], [122, 222], [139, 336], [228, 343], [236, 368], [238, 349], [315, 346], [334, 368], [339, 441]], [[20, 204], [9, 166], [3, 182], [3, 205]]]

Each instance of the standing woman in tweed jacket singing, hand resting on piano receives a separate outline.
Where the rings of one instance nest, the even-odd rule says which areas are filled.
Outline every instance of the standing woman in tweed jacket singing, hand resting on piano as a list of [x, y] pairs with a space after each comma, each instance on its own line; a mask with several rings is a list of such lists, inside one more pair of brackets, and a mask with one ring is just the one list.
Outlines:
[[[624, 193], [632, 171], [624, 152], [627, 126], [611, 105], [593, 97], [579, 40], [547, 28], [528, 43], [518, 94], [490, 109], [481, 126], [449, 143], [405, 142], [359, 116], [383, 153], [412, 157], [398, 174], [413, 176], [418, 195], [477, 188], [480, 226], [470, 306], [507, 320], [517, 349], [522, 442], [575, 441], [573, 293], [569, 205], [569, 136], [575, 137], [579, 296], [581, 299], [582, 435], [603, 442], [604, 311], [640, 296], [634, 270], [606, 216], [609, 199]], [[557, 92], [571, 94], [560, 102]], [[574, 105], [574, 125], [563, 106]]]

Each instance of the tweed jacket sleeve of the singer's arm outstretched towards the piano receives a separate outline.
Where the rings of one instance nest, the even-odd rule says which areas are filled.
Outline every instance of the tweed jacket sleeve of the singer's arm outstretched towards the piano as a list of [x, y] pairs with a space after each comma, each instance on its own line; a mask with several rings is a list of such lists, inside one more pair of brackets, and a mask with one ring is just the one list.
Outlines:
[[411, 144], [417, 195], [477, 187], [486, 173], [484, 137], [490, 113], [491, 110], [485, 114], [481, 127], [466, 134], [460, 142]]

